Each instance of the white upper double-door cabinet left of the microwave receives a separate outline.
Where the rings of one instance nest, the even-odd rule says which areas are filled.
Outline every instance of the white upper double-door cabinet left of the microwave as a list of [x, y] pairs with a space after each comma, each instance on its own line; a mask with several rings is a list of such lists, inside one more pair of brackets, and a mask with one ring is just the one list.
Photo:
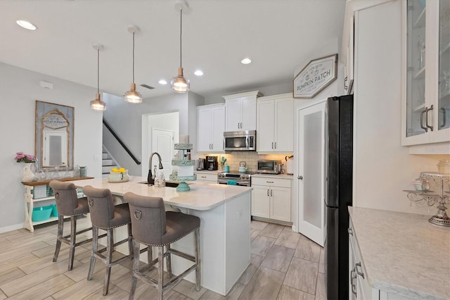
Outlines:
[[225, 104], [197, 107], [198, 152], [224, 152]]

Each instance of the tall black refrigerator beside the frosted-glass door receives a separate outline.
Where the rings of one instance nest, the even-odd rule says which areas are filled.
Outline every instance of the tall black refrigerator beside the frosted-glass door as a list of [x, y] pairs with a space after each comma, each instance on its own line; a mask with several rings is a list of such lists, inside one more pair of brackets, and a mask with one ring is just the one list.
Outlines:
[[327, 106], [325, 285], [328, 299], [349, 299], [347, 206], [352, 206], [353, 95], [330, 97]]

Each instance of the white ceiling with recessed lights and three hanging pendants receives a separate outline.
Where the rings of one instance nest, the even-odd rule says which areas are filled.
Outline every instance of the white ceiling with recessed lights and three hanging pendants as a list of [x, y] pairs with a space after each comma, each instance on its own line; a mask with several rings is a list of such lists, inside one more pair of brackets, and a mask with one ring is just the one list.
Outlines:
[[[187, 2], [182, 65], [191, 91], [203, 96], [290, 82], [295, 65], [342, 36], [345, 0]], [[19, 27], [20, 19], [38, 30]], [[132, 81], [127, 27], [136, 25], [137, 89], [144, 98], [169, 94], [169, 84], [158, 80], [176, 76], [179, 21], [175, 0], [0, 0], [0, 61], [96, 87], [93, 45], [103, 44], [100, 89], [121, 96]], [[240, 63], [245, 56], [250, 65]], [[195, 76], [196, 69], [204, 75]]]

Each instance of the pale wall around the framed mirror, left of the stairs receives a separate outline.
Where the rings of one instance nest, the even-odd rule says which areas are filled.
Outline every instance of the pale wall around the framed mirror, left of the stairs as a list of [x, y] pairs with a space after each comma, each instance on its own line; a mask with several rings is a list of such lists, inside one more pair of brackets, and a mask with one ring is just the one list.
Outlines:
[[[43, 80], [53, 89], [39, 86]], [[0, 63], [0, 232], [23, 227], [25, 188], [20, 183], [23, 163], [15, 153], [34, 154], [35, 101], [75, 108], [74, 163], [86, 165], [89, 176], [101, 176], [101, 115], [89, 108], [96, 89], [13, 65]]]

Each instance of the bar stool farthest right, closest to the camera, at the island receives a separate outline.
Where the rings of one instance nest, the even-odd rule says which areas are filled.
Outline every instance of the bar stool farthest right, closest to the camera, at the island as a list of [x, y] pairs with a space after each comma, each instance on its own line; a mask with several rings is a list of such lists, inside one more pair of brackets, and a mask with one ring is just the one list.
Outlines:
[[[129, 204], [131, 213], [131, 224], [133, 225], [133, 278], [131, 281], [131, 291], [129, 299], [134, 298], [138, 278], [143, 282], [158, 288], [158, 299], [162, 300], [162, 292], [169, 289], [176, 282], [195, 270], [195, 289], [200, 290], [200, 218], [194, 215], [186, 215], [174, 211], [165, 211], [164, 201], [162, 198], [139, 196], [131, 192], [124, 194], [124, 200]], [[171, 249], [170, 244], [194, 232], [194, 248], [195, 256], [185, 254], [176, 249]], [[139, 246], [140, 244], [148, 245], [149, 260], [145, 268], [139, 270]], [[151, 261], [151, 247], [158, 246], [158, 258]], [[166, 246], [166, 251], [164, 251]], [[172, 277], [172, 261], [171, 254], [181, 256], [194, 264], [183, 273], [176, 277]], [[163, 261], [166, 258], [167, 275], [171, 278], [168, 282], [162, 282], [163, 277]], [[158, 263], [158, 280], [154, 280], [143, 274], [144, 271], [153, 268]]]

